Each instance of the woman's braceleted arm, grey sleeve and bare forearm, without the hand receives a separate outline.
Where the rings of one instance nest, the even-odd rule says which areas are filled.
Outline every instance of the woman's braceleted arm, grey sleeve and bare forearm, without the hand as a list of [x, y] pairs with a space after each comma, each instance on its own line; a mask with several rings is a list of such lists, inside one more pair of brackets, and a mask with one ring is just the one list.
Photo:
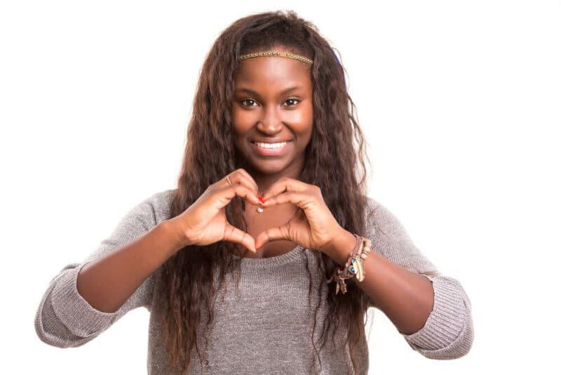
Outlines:
[[[473, 343], [473, 322], [463, 287], [421, 254], [391, 211], [374, 199], [369, 202], [365, 237], [372, 251], [364, 262], [365, 279], [356, 284], [370, 298], [370, 307], [382, 310], [410, 347], [425, 357], [466, 355]], [[343, 266], [356, 239], [346, 230], [337, 238], [332, 258]]]

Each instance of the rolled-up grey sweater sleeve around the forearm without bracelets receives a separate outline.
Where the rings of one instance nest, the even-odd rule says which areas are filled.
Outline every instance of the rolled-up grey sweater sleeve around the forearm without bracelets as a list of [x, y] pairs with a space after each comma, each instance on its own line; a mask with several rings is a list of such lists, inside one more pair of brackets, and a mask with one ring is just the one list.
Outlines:
[[109, 237], [81, 263], [69, 263], [50, 280], [35, 314], [35, 331], [41, 341], [58, 348], [81, 346], [98, 336], [128, 311], [149, 307], [153, 289], [148, 277], [114, 313], [93, 308], [78, 292], [78, 273], [86, 263], [140, 237], [156, 225], [154, 206], [145, 199], [134, 206], [116, 225]]

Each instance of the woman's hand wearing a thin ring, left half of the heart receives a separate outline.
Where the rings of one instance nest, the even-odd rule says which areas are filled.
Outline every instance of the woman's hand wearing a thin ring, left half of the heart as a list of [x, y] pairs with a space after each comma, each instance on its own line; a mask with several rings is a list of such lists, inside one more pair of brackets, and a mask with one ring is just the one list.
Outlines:
[[257, 183], [250, 174], [244, 169], [236, 169], [210, 185], [189, 208], [170, 220], [189, 245], [204, 246], [225, 240], [242, 244], [255, 253], [255, 239], [227, 221], [224, 207], [236, 196], [259, 204], [257, 194]]

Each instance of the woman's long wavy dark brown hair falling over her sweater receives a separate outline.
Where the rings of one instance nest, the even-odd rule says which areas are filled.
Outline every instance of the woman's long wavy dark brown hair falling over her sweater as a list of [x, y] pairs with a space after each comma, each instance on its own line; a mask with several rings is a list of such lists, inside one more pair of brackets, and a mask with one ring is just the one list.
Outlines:
[[[187, 145], [170, 217], [185, 211], [209, 185], [241, 167], [236, 162], [238, 159], [231, 120], [237, 58], [274, 46], [313, 60], [313, 131], [305, 150], [304, 169], [299, 179], [320, 187], [325, 204], [342, 228], [363, 233], [367, 204], [365, 159], [368, 158], [363, 133], [354, 114], [356, 107], [346, 91], [344, 67], [334, 49], [320, 36], [317, 27], [299, 18], [294, 11], [257, 13], [236, 20], [224, 29], [210, 49], [196, 88], [187, 129]], [[247, 230], [243, 220], [244, 209], [243, 199], [234, 197], [225, 212], [232, 225]], [[202, 348], [198, 345], [197, 327], [203, 316], [208, 317], [203, 331], [206, 346], [208, 329], [214, 322], [216, 291], [227, 287], [224, 275], [236, 271], [238, 286], [243, 254], [229, 257], [226, 251], [238, 253], [236, 246], [226, 241], [208, 246], [186, 246], [162, 266], [162, 325], [169, 355], [168, 364], [174, 374], [184, 373], [189, 368], [193, 349], [202, 367]], [[318, 264], [322, 265], [321, 273], [326, 282], [339, 265], [319, 251], [314, 253], [320, 260]], [[311, 278], [307, 263], [306, 270]], [[213, 277], [215, 271], [219, 271], [218, 284]], [[360, 373], [364, 369], [356, 368], [361, 362], [355, 350], [360, 338], [365, 338], [364, 319], [368, 297], [353, 279], [346, 282], [346, 294], [335, 296], [334, 287], [329, 289], [327, 301], [323, 302], [327, 302], [330, 319], [324, 320], [318, 340], [319, 349], [313, 342], [313, 334], [312, 343], [314, 355], [318, 355], [330, 329], [334, 340], [339, 323], [344, 324], [347, 332], [345, 345], [349, 343], [353, 364], [350, 372]], [[310, 282], [309, 296], [311, 286]], [[317, 311], [316, 306], [316, 315]], [[314, 320], [313, 331], [315, 329]]]

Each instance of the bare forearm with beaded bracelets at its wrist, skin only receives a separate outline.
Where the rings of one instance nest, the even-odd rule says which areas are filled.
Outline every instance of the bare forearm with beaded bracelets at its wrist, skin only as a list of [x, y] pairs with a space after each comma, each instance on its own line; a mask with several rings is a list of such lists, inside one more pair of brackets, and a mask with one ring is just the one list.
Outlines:
[[[342, 267], [356, 243], [351, 232], [344, 231], [327, 251]], [[370, 297], [374, 306], [386, 314], [402, 334], [413, 334], [424, 327], [433, 310], [431, 280], [388, 261], [372, 249], [364, 261], [365, 278], [356, 284]]]

